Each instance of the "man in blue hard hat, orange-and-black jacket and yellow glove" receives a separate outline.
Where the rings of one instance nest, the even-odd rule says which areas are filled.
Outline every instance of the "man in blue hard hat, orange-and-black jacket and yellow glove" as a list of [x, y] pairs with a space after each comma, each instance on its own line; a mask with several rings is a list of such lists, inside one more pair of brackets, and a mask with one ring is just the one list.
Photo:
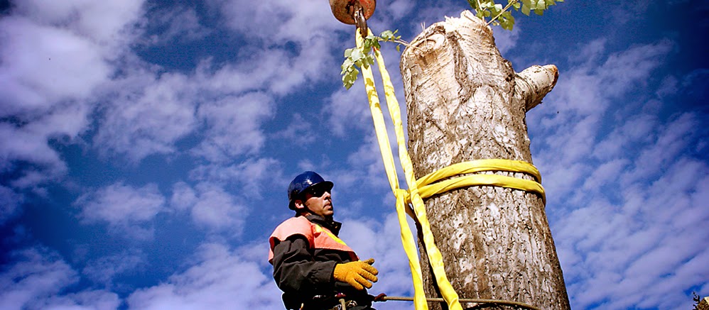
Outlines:
[[332, 219], [332, 182], [306, 171], [288, 185], [288, 207], [296, 216], [271, 237], [269, 262], [287, 309], [372, 309], [366, 289], [377, 282], [373, 259], [360, 261], [337, 237]]

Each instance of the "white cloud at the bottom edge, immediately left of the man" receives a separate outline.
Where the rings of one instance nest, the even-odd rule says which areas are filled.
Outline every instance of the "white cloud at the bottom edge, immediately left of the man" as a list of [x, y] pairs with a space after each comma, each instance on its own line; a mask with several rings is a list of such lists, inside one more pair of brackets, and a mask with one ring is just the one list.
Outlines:
[[200, 247], [195, 265], [167, 282], [139, 289], [129, 309], [280, 309], [281, 292], [259, 264], [220, 244]]

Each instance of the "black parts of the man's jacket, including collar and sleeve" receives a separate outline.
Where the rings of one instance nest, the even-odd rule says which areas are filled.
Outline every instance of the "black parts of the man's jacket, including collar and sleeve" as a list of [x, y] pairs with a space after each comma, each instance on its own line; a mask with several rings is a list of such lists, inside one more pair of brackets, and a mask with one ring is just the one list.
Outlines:
[[[337, 236], [341, 223], [328, 221], [322, 216], [306, 216]], [[288, 309], [298, 309], [301, 304], [313, 304], [315, 300], [328, 300], [342, 293], [357, 304], [371, 304], [366, 290], [357, 290], [345, 282], [332, 278], [335, 265], [350, 262], [347, 252], [330, 249], [313, 249], [305, 236], [293, 235], [274, 246], [274, 279], [283, 291], [283, 303]], [[316, 297], [319, 296], [319, 297]], [[332, 299], [337, 301], [337, 299]], [[329, 304], [330, 301], [324, 301]]]

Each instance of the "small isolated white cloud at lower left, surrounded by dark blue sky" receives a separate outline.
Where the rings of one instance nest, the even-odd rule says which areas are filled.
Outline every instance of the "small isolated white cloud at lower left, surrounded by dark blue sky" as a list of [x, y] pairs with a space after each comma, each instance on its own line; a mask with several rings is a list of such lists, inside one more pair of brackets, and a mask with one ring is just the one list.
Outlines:
[[151, 239], [151, 222], [165, 209], [165, 197], [155, 184], [135, 188], [117, 182], [82, 194], [75, 202], [85, 223], [108, 223], [114, 233]]

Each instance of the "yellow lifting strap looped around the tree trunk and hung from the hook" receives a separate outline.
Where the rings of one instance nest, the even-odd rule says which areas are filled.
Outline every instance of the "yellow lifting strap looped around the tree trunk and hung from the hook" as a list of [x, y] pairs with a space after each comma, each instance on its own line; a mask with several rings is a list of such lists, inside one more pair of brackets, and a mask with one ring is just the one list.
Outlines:
[[[368, 29], [368, 33], [372, 31]], [[357, 48], [361, 48], [363, 44], [362, 35], [359, 31], [355, 32]], [[399, 188], [399, 178], [396, 175], [396, 167], [394, 165], [394, 157], [391, 155], [391, 145], [384, 124], [384, 115], [381, 112], [379, 104], [379, 96], [377, 89], [374, 87], [374, 75], [372, 67], [362, 67], [362, 77], [364, 80], [364, 89], [367, 91], [369, 98], [369, 109], [372, 112], [374, 121], [374, 130], [377, 133], [377, 142], [381, 158], [384, 161], [384, 169], [386, 176], [389, 179], [391, 191], [396, 196], [396, 214], [399, 218], [399, 226], [401, 226], [401, 243], [404, 245], [404, 252], [408, 257], [408, 264], [411, 268], [411, 277], [413, 279], [413, 304], [417, 310], [428, 310], [426, 303], [426, 294], [423, 292], [423, 276], [421, 275], [421, 262], [418, 260], [418, 251], [416, 250], [416, 242], [413, 239], [411, 229], [406, 221], [406, 204], [411, 203], [415, 219], [421, 224], [421, 233], [423, 235], [423, 245], [428, 253], [428, 260], [431, 263], [433, 275], [441, 296], [448, 304], [448, 309], [462, 310], [458, 294], [453, 289], [453, 286], [448, 281], [445, 275], [443, 266], [443, 258], [440, 251], [435, 246], [433, 233], [431, 233], [431, 225], [426, 218], [426, 206], [423, 204], [423, 198], [446, 192], [450, 189], [458, 187], [468, 187], [473, 185], [494, 185], [500, 187], [510, 187], [521, 189], [529, 192], [536, 192], [544, 198], [544, 189], [541, 187], [541, 177], [538, 170], [528, 162], [516, 160], [476, 160], [472, 162], [461, 162], [459, 164], [450, 165], [441, 170], [433, 172], [418, 181], [413, 175], [413, 165], [411, 157], [406, 150], [404, 138], [404, 126], [401, 123], [401, 111], [399, 110], [399, 101], [394, 95], [394, 86], [391, 84], [389, 72], [386, 71], [384, 59], [381, 57], [379, 50], [374, 50], [374, 57], [377, 60], [377, 67], [381, 74], [382, 82], [384, 83], [384, 94], [386, 96], [386, 106], [389, 108], [391, 121], [394, 123], [394, 132], [396, 133], [396, 142], [399, 149], [399, 161], [404, 170], [406, 184], [408, 190]], [[455, 175], [475, 173], [482, 171], [508, 171], [508, 172], [524, 172], [532, 175], [536, 181], [527, 179], [518, 179], [515, 177], [506, 177], [502, 175], [465, 175], [462, 177], [453, 177]], [[444, 181], [437, 182], [440, 179]], [[434, 183], [435, 182], [435, 183]]]

